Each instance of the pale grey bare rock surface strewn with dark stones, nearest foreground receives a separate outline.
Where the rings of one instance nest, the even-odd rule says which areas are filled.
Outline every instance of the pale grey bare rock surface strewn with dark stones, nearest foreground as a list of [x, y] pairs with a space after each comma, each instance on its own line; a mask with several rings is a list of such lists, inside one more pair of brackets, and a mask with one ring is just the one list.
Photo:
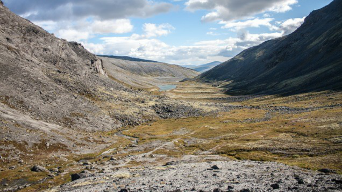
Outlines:
[[[217, 165], [221, 169], [211, 169]], [[52, 190], [91, 191], [341, 191], [340, 175], [326, 175], [274, 162], [181, 163], [120, 168], [81, 178]], [[337, 181], [337, 182], [336, 182]]]

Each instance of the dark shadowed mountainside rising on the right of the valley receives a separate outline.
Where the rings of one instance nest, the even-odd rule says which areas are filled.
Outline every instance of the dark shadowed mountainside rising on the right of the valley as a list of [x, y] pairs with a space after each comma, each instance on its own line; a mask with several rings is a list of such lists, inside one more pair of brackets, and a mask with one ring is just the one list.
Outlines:
[[290, 35], [251, 47], [195, 80], [229, 82], [229, 94], [342, 89], [342, 0], [313, 11]]

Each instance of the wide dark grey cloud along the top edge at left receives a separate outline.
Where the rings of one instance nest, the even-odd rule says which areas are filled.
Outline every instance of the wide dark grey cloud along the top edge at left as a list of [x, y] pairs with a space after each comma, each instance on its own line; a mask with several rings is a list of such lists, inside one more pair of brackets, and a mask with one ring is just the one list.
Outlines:
[[69, 20], [98, 17], [98, 20], [149, 17], [165, 13], [173, 5], [150, 0], [4, 0], [6, 6], [30, 20]]

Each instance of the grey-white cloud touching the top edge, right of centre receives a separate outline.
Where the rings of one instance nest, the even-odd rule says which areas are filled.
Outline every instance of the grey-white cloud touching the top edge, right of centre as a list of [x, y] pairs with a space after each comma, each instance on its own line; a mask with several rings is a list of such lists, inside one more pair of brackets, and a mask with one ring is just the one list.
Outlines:
[[248, 18], [264, 12], [286, 12], [297, 0], [188, 0], [185, 5], [189, 11], [208, 10], [203, 22], [216, 20], [231, 21]]

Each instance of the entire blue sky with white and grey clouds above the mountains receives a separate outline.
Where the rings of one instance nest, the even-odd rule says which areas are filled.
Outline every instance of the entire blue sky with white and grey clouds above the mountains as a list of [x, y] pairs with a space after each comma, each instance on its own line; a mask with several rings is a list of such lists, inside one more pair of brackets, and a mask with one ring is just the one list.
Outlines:
[[12, 12], [94, 54], [201, 65], [288, 35], [332, 0], [3, 1]]

